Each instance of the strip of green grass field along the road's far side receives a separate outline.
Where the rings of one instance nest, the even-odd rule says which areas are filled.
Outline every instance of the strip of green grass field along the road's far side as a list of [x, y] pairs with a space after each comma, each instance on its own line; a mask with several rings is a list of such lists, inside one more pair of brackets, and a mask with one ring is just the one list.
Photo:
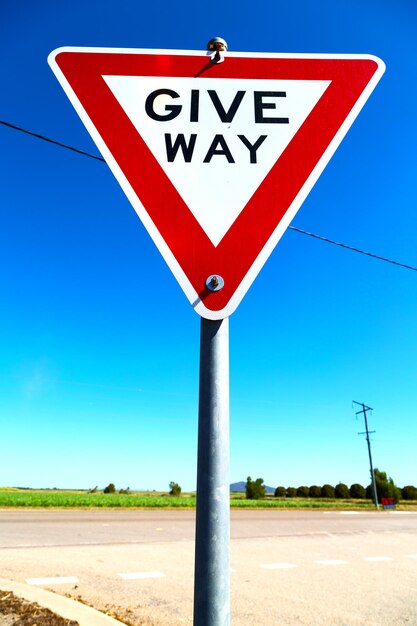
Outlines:
[[[402, 503], [400, 508], [405, 508]], [[407, 508], [417, 503], [407, 503]], [[167, 493], [131, 492], [129, 494], [104, 494], [101, 491], [71, 490], [32, 490], [0, 488], [0, 509], [4, 508], [194, 508], [195, 493], [173, 497]], [[246, 500], [245, 494], [231, 494], [230, 505], [233, 508], [281, 508], [281, 509], [373, 509], [370, 500], [331, 500], [321, 498], [274, 498], [264, 500]]]

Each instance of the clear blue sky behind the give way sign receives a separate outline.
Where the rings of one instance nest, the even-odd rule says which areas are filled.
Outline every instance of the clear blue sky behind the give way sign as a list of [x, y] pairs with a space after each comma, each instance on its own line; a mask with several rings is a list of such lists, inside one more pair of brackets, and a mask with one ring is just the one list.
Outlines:
[[[293, 225], [417, 266], [411, 0], [2, 8], [0, 119], [98, 154], [60, 46], [368, 53], [387, 71]], [[200, 322], [103, 163], [0, 125], [0, 485], [195, 488]], [[417, 484], [417, 274], [287, 231], [230, 318], [231, 480]]]

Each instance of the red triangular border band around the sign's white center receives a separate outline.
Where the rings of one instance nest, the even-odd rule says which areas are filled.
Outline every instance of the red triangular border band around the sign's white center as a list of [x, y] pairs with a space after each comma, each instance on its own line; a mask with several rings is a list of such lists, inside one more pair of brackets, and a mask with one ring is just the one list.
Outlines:
[[[225, 62], [214, 64], [201, 53], [62, 49], [56, 51], [54, 58], [192, 285], [199, 305], [197, 310], [212, 319], [232, 312], [229, 303], [243, 279], [381, 67], [377, 59], [368, 56], [228, 55]], [[196, 77], [202, 83], [207, 77], [327, 80], [331, 84], [215, 247], [119, 105], [103, 75]], [[212, 292], [205, 286], [206, 278], [212, 274], [220, 274], [224, 279], [220, 291]], [[243, 294], [239, 301], [241, 297]], [[234, 303], [233, 310], [237, 304]]]

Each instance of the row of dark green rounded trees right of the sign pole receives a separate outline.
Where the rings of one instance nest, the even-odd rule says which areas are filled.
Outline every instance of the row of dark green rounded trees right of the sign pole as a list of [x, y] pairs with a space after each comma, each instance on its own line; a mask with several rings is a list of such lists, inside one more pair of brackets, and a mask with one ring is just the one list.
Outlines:
[[[407, 485], [400, 489], [397, 487], [392, 478], [388, 478], [386, 472], [381, 472], [378, 469], [374, 470], [376, 490], [378, 494], [378, 500], [381, 502], [382, 498], [393, 498], [395, 502], [402, 500], [417, 500], [417, 487], [413, 485]], [[261, 500], [266, 495], [266, 489], [262, 478], [252, 480], [248, 476], [246, 482], [246, 498], [249, 500]], [[372, 485], [364, 487], [359, 483], [354, 483], [350, 487], [344, 483], [338, 483], [333, 486], [330, 484], [325, 485], [301, 485], [300, 487], [283, 487], [279, 486], [275, 489], [276, 498], [355, 498], [359, 500], [371, 500]]]

